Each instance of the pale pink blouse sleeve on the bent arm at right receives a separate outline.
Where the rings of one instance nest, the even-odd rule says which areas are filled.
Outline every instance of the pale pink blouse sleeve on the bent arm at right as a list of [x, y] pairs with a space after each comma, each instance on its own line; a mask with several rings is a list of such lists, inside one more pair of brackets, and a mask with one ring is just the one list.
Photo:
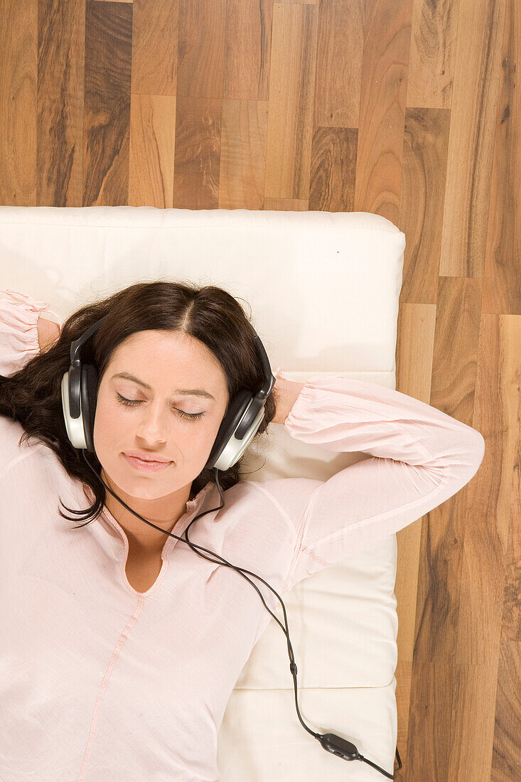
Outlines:
[[371, 455], [327, 481], [262, 483], [296, 532], [285, 590], [437, 508], [476, 474], [485, 452], [480, 432], [436, 407], [341, 375], [308, 380], [284, 426], [324, 450]]

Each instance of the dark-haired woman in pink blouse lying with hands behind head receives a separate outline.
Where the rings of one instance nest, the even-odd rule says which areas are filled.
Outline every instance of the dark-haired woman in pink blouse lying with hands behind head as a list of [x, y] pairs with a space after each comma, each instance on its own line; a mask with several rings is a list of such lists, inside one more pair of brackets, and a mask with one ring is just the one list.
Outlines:
[[[483, 437], [375, 383], [279, 377], [258, 436], [278, 422], [306, 443], [371, 457], [327, 481], [243, 480], [239, 460], [219, 476], [220, 506], [203, 465], [229, 400], [262, 382], [246, 314], [228, 292], [131, 285], [82, 307], [59, 335], [42, 334], [43, 353], [38, 322], [49, 305], [2, 293], [0, 777], [216, 782], [225, 707], [270, 615], [240, 574], [106, 494], [66, 436], [70, 343], [109, 316], [84, 346], [99, 372], [95, 464], [107, 485], [179, 537], [208, 509], [191, 542], [278, 594], [461, 490], [483, 460]], [[142, 472], [124, 456], [132, 450], [164, 465]], [[58, 497], [83, 525], [65, 523]]]

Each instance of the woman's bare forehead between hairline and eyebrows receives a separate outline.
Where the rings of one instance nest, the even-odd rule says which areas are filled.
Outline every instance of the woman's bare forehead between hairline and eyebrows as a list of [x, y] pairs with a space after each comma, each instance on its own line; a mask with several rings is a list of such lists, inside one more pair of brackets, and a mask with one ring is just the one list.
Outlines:
[[[203, 388], [217, 396], [226, 391], [220, 361], [199, 339], [182, 332], [144, 331], [131, 334], [114, 350], [107, 371], [128, 372], [168, 390]], [[158, 379], [159, 378], [159, 379]]]

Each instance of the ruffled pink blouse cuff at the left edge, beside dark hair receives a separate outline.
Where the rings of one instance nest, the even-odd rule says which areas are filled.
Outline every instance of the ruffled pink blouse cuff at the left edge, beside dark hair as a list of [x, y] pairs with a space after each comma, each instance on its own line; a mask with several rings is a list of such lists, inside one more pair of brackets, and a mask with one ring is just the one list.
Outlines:
[[38, 355], [38, 317], [45, 311], [56, 318], [60, 328], [63, 326], [59, 316], [49, 310], [49, 303], [11, 288], [0, 289], [0, 375], [16, 375]]

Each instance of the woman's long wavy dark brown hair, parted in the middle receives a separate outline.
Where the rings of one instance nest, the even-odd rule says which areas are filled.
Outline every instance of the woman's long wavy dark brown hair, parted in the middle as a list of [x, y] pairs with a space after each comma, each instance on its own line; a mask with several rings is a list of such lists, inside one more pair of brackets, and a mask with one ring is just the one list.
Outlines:
[[[81, 352], [83, 363], [92, 363], [98, 368], [98, 387], [117, 346], [129, 335], [145, 330], [184, 332], [204, 343], [225, 372], [228, 407], [229, 400], [239, 390], [257, 393], [264, 382], [249, 318], [234, 296], [215, 285], [200, 287], [195, 282], [167, 280], [138, 282], [77, 310], [64, 322], [59, 338], [49, 350], [34, 357], [12, 377], [0, 375], [0, 415], [19, 421], [23, 426], [19, 446], [29, 437], [35, 437], [55, 452], [71, 477], [92, 488], [95, 500], [81, 511], [67, 508], [59, 500], [63, 508], [77, 518], [65, 516], [58, 508], [59, 515], [69, 521], [81, 520], [84, 524], [98, 518], [105, 503], [106, 489], [85, 464], [81, 450], [74, 448], [67, 436], [61, 382], [70, 366], [70, 343], [105, 315], [108, 315], [106, 321], [84, 344]], [[256, 437], [275, 416], [277, 393], [275, 388], [271, 389]], [[95, 454], [87, 457], [99, 475], [102, 465], [98, 458]], [[240, 462], [241, 459], [225, 472], [219, 471], [223, 490], [239, 482]], [[203, 469], [192, 482], [192, 494], [195, 496], [209, 481], [215, 482], [214, 470]]]

